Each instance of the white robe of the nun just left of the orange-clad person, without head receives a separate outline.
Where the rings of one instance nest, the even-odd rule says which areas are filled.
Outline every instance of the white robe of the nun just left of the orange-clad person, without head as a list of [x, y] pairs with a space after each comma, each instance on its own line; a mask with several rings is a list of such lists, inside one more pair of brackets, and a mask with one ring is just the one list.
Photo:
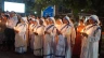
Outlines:
[[[62, 28], [63, 29], [61, 30], [61, 33], [63, 34], [63, 38], [65, 39], [63, 40], [63, 44], [66, 46], [65, 47], [65, 47], [65, 54], [63, 54], [63, 56], [65, 55], [65, 58], [72, 58], [72, 45], [75, 43], [76, 31], [74, 27], [72, 27], [70, 25], [66, 25], [66, 24], [63, 24]], [[63, 48], [63, 52], [64, 52], [64, 48]]]

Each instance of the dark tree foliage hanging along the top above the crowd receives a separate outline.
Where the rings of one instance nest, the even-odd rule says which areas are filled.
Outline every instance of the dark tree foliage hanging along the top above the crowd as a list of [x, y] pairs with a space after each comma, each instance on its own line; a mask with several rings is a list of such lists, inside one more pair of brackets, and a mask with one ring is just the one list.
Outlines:
[[41, 10], [49, 5], [63, 6], [66, 10], [72, 9], [75, 15], [81, 10], [86, 12], [94, 10], [99, 15], [104, 13], [104, 0], [35, 0], [35, 2], [26, 2], [26, 4], [27, 11], [37, 11], [38, 13], [41, 13]]

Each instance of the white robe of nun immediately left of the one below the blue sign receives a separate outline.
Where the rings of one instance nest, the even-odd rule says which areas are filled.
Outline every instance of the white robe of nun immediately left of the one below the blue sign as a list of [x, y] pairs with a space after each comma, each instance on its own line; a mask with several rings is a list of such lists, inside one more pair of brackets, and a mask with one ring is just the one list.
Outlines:
[[43, 53], [43, 34], [44, 34], [44, 26], [37, 26], [34, 30], [34, 32], [38, 33], [38, 35], [35, 34], [35, 41], [34, 41], [34, 55], [36, 56], [42, 56]]

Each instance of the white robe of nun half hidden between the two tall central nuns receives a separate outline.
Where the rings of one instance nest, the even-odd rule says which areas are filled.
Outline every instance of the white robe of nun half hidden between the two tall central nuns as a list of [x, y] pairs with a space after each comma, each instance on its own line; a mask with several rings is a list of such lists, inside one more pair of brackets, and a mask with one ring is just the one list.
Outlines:
[[[57, 30], [61, 32], [63, 25], [55, 25]], [[65, 37], [63, 34], [57, 35], [55, 40], [55, 58], [64, 58], [65, 57]]]

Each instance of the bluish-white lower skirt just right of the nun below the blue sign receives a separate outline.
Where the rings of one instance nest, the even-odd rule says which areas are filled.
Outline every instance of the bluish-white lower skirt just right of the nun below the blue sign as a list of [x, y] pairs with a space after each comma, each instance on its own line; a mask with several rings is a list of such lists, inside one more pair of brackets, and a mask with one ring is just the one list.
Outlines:
[[57, 39], [58, 41], [55, 48], [56, 49], [55, 56], [60, 56], [60, 57], [55, 57], [55, 58], [63, 58], [65, 57], [65, 46], [66, 46], [65, 37], [60, 34]]

